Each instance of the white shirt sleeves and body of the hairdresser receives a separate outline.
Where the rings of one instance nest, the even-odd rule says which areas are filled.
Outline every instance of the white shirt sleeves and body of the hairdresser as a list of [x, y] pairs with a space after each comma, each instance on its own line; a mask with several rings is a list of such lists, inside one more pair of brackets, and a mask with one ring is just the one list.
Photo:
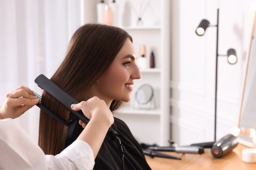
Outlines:
[[89, 144], [76, 141], [56, 156], [43, 150], [11, 118], [0, 120], [0, 169], [93, 169]]

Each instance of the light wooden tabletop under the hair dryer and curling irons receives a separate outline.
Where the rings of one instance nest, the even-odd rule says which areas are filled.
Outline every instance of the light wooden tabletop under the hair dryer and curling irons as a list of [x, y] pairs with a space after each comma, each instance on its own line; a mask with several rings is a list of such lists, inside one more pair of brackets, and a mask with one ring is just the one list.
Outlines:
[[242, 161], [241, 152], [243, 148], [247, 148], [242, 144], [238, 144], [232, 152], [223, 156], [223, 158], [213, 158], [211, 150], [205, 148], [204, 154], [177, 154], [175, 152], [165, 152], [172, 156], [181, 157], [181, 160], [171, 160], [167, 158], [150, 158], [146, 156], [148, 164], [153, 170], [165, 170], [165, 169], [256, 169], [256, 163], [245, 163]]

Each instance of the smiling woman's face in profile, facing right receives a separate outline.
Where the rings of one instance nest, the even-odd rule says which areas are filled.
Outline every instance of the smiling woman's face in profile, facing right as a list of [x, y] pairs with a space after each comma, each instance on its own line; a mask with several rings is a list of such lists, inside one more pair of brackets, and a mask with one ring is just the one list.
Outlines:
[[114, 99], [130, 101], [133, 80], [140, 78], [135, 53], [133, 43], [127, 39], [106, 73], [98, 80], [95, 95], [104, 99], [107, 105]]

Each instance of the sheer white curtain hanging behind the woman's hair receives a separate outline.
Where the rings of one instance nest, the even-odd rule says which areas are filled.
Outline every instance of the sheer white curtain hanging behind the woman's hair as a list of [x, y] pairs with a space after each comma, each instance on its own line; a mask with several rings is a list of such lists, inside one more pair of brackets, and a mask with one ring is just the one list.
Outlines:
[[[0, 105], [17, 86], [41, 89], [35, 78], [51, 77], [64, 58], [70, 37], [80, 26], [79, 1], [0, 1]], [[38, 138], [39, 108], [16, 121]]]

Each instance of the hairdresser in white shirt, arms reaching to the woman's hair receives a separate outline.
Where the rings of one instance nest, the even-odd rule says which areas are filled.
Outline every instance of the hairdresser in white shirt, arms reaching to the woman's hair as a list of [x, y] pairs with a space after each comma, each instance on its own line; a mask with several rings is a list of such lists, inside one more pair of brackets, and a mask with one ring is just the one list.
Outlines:
[[[90, 119], [76, 141], [60, 154], [45, 155], [13, 118], [39, 103], [32, 90], [20, 86], [6, 95], [0, 107], [0, 169], [93, 169], [98, 150], [109, 127], [112, 112], [98, 97], [72, 105]], [[98, 126], [100, 124], [100, 126]], [[86, 126], [86, 127], [85, 127]]]

